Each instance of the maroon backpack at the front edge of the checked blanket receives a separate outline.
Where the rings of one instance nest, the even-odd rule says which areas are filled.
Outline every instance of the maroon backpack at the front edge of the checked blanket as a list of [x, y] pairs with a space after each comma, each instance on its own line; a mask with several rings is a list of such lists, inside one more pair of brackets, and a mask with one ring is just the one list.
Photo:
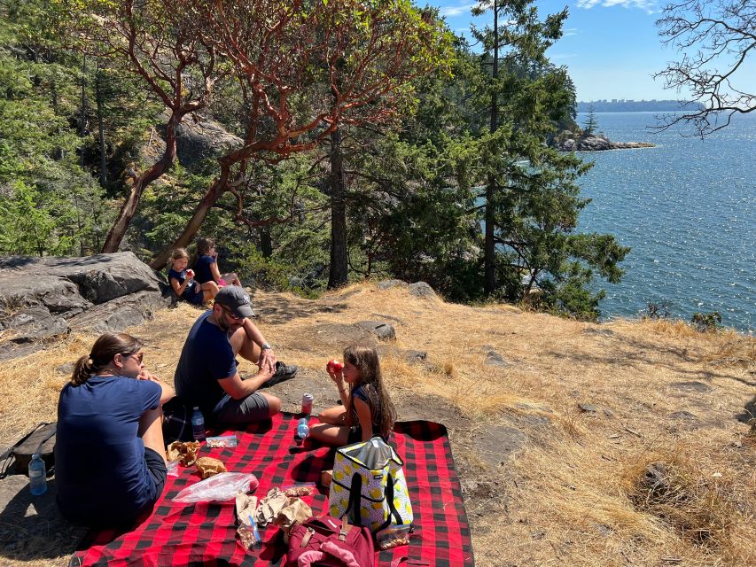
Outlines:
[[347, 517], [311, 517], [292, 528], [287, 567], [374, 567], [373, 536]]

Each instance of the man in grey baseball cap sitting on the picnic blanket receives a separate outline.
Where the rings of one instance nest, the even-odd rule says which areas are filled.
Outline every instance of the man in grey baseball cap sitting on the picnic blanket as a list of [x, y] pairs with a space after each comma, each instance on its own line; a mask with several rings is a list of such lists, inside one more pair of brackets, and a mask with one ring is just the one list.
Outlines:
[[[188, 407], [198, 407], [209, 423], [244, 425], [277, 414], [281, 400], [258, 390], [297, 373], [296, 366], [276, 360], [249, 319], [253, 315], [245, 289], [227, 285], [215, 296], [213, 309], [199, 315], [183, 344], [175, 392]], [[242, 379], [237, 355], [257, 364], [257, 374]]]

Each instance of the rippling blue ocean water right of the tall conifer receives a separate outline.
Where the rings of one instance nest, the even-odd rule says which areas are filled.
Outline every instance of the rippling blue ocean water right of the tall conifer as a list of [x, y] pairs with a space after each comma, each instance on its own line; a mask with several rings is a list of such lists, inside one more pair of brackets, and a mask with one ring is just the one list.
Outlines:
[[[756, 330], [756, 115], [700, 140], [652, 133], [654, 113], [596, 113], [598, 130], [640, 150], [580, 152], [596, 163], [581, 179], [591, 203], [583, 232], [632, 248], [619, 284], [601, 282], [602, 319], [666, 302], [675, 318], [718, 311], [722, 324]], [[580, 124], [585, 115], [578, 116]]]

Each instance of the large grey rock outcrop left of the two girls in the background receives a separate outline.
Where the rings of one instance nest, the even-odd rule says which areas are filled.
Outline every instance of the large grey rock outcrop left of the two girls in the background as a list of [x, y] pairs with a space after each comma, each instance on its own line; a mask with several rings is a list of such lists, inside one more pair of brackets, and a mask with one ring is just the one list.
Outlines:
[[171, 293], [132, 252], [83, 258], [0, 258], [0, 359], [72, 330], [123, 330], [152, 318]]

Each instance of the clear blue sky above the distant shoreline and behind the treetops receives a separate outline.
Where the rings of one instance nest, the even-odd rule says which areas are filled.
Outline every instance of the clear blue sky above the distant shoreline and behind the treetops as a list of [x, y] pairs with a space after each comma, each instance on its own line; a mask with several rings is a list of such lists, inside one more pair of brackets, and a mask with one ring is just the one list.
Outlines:
[[[490, 13], [473, 19], [470, 11], [475, 3], [470, 0], [427, 1], [440, 7], [456, 34], [467, 31], [468, 39], [471, 21], [479, 27], [493, 21]], [[675, 56], [659, 40], [655, 22], [662, 4], [657, 0], [540, 0], [536, 4], [542, 18], [565, 5], [569, 9], [565, 36], [548, 54], [554, 64], [568, 67], [578, 100], [678, 97], [674, 90], [664, 89], [661, 79], [651, 76]]]

